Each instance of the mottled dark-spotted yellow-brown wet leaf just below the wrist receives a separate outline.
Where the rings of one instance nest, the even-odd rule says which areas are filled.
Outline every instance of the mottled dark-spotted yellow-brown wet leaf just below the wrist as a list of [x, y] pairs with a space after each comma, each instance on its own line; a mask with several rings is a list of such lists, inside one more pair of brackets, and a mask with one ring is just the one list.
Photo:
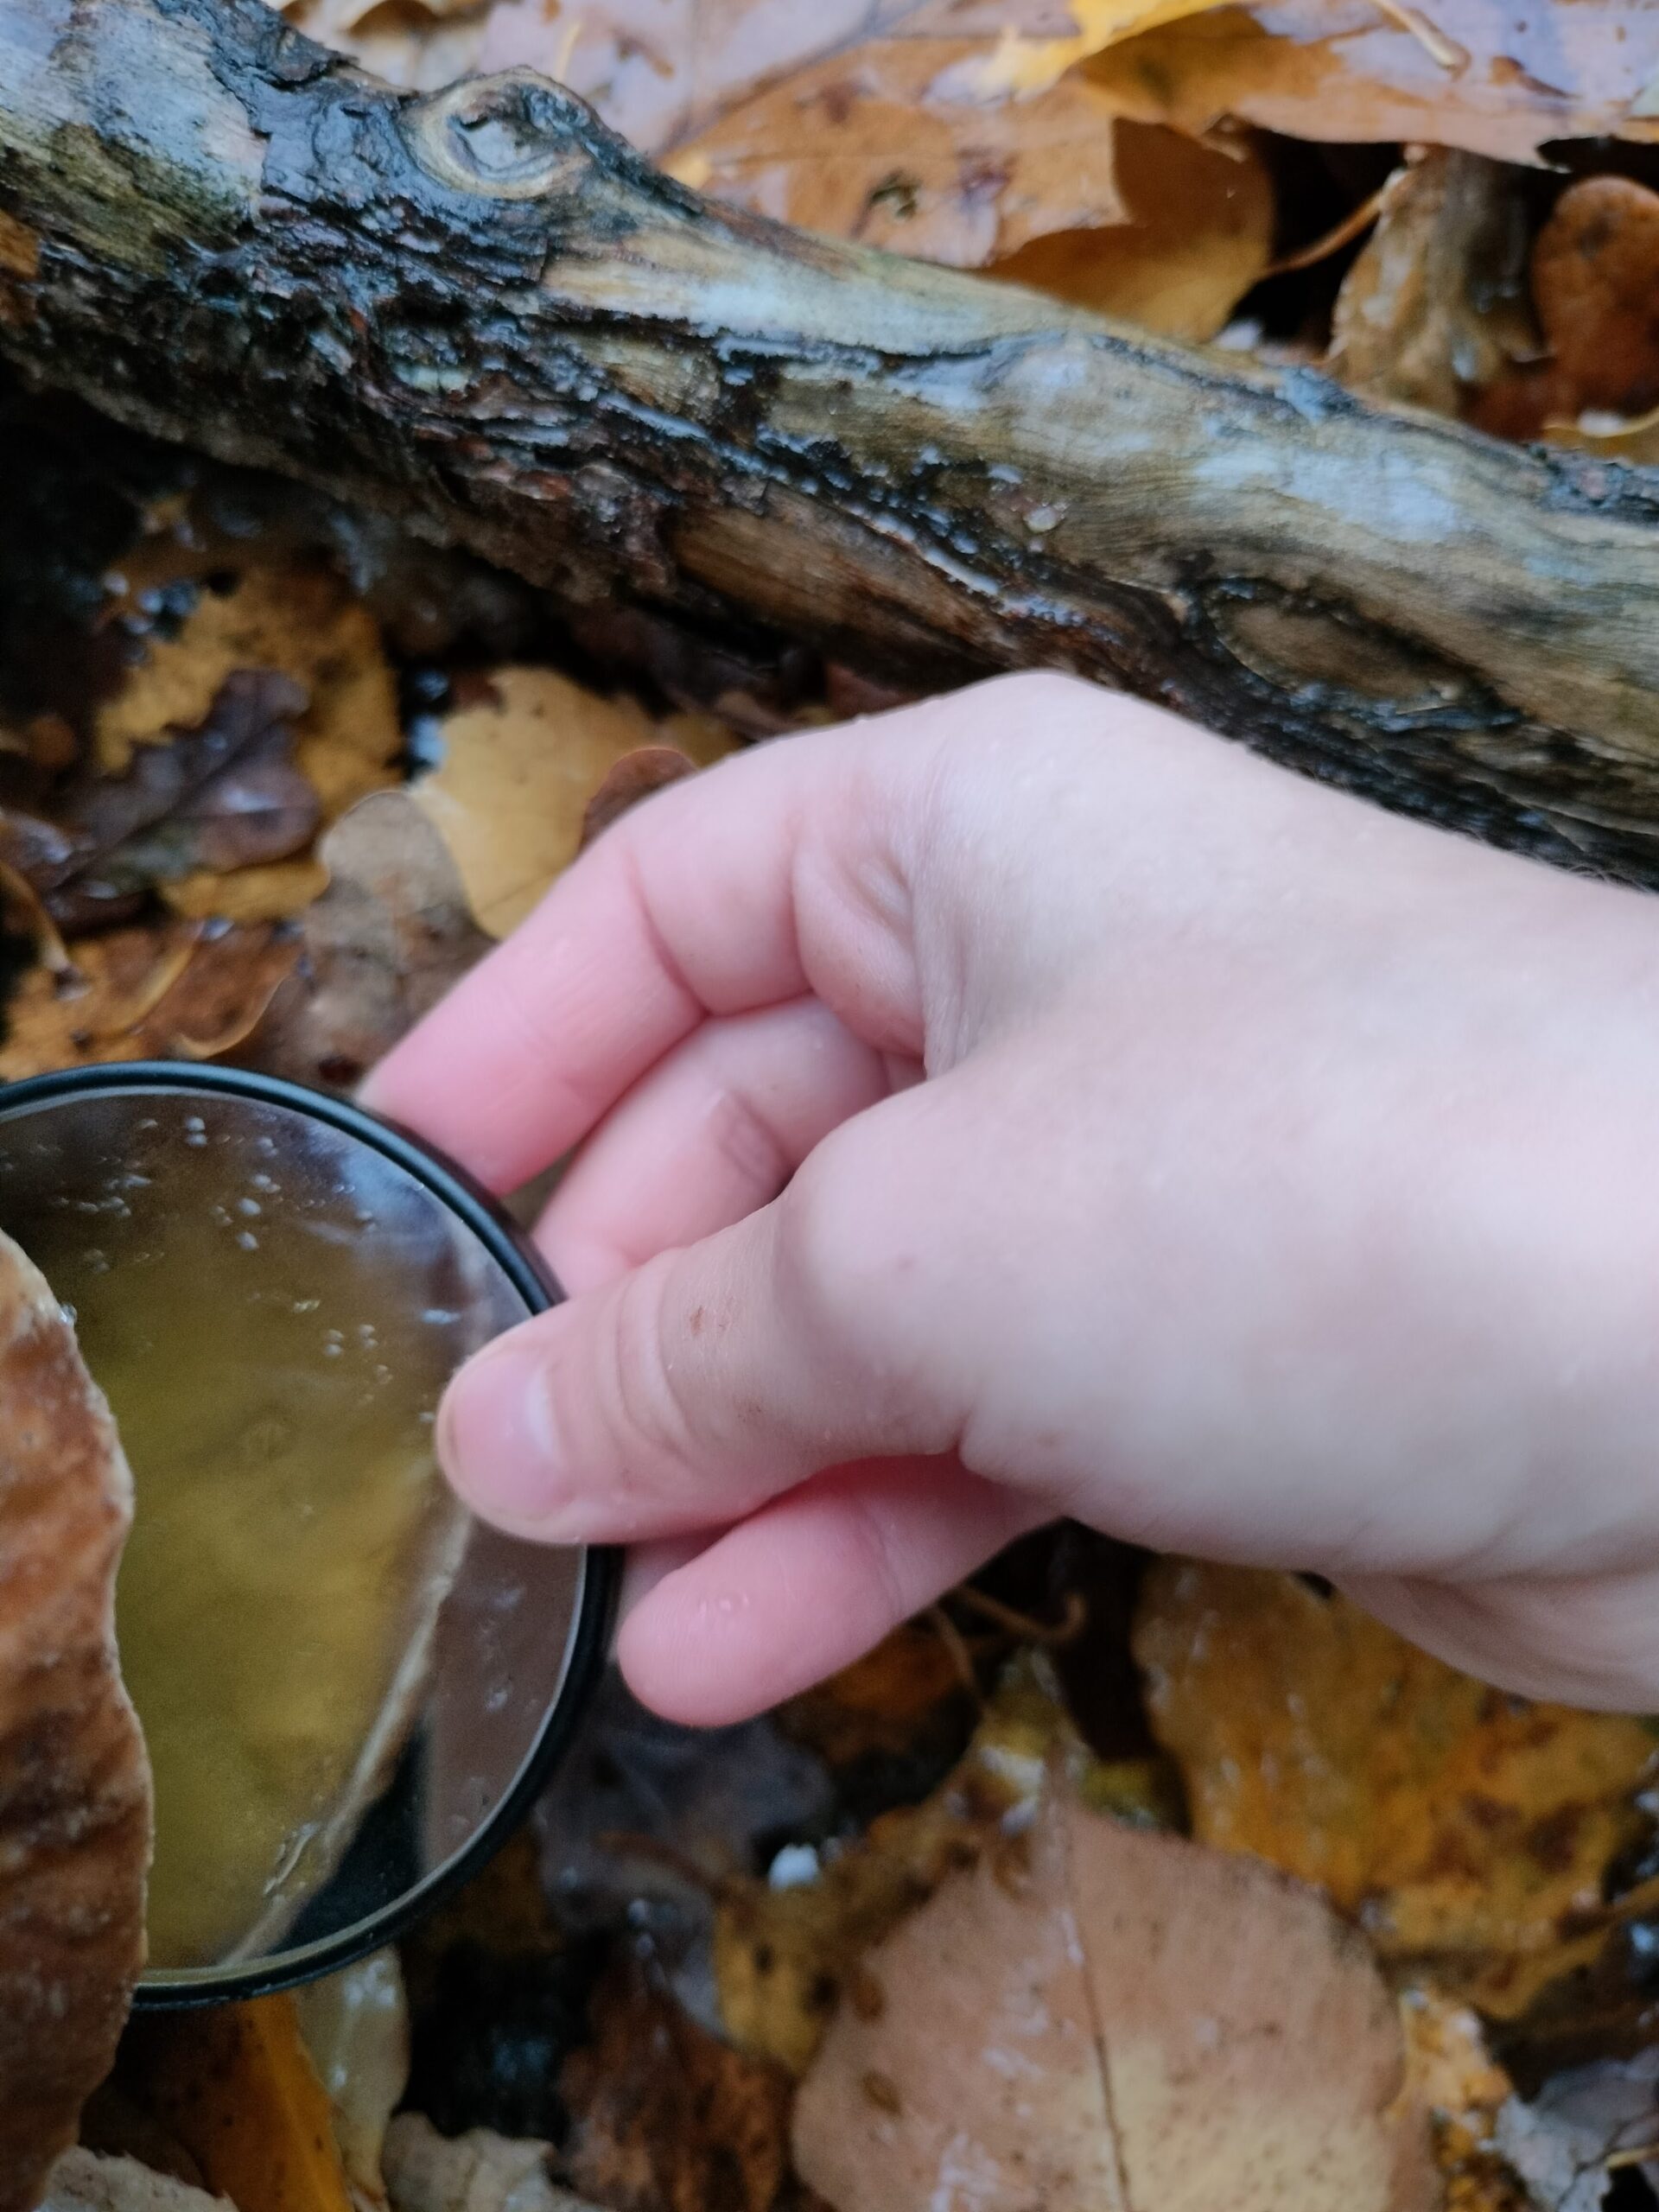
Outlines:
[[1194, 1836], [1318, 1882], [1383, 1958], [1509, 2020], [1599, 1949], [1646, 1721], [1506, 1697], [1250, 1568], [1155, 1566], [1135, 1655]]

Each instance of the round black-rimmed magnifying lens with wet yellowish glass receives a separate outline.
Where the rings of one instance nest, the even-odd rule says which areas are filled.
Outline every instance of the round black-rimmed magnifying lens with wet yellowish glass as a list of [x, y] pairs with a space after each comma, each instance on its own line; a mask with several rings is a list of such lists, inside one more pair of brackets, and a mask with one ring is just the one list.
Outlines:
[[0, 1091], [0, 1225], [73, 1307], [133, 1467], [137, 2004], [330, 1973], [511, 1832], [604, 1661], [615, 1555], [484, 1528], [434, 1449], [449, 1376], [557, 1287], [411, 1137], [219, 1066]]

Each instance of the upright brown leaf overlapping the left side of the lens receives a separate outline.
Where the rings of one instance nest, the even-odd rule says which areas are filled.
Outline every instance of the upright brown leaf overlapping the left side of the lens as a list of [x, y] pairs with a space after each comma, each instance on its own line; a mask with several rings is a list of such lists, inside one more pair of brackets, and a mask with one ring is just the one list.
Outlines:
[[75, 1332], [0, 1234], [0, 2212], [75, 2139], [144, 1964], [150, 1774], [115, 1655], [131, 1515]]

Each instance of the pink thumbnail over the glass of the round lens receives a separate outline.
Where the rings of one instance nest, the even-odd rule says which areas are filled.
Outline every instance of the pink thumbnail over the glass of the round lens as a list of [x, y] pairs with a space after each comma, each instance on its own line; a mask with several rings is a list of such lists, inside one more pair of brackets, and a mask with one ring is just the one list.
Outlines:
[[504, 1336], [469, 1360], [445, 1391], [438, 1460], [484, 1520], [546, 1531], [566, 1502], [549, 1380], [546, 1358]]

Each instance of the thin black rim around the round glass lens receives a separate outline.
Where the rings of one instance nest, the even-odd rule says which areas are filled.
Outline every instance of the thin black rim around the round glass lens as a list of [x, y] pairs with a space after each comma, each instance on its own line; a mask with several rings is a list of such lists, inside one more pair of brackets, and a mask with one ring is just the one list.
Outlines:
[[[18, 1108], [46, 1106], [84, 1093], [119, 1091], [223, 1093], [254, 1099], [263, 1106], [285, 1106], [325, 1121], [330, 1128], [356, 1137], [380, 1152], [383, 1159], [403, 1168], [447, 1206], [449, 1212], [465, 1221], [513, 1283], [531, 1314], [544, 1314], [564, 1296], [564, 1290], [529, 1237], [465, 1168], [445, 1159], [442, 1152], [436, 1152], [396, 1121], [387, 1121], [330, 1091], [292, 1082], [285, 1075], [257, 1075], [248, 1068], [199, 1064], [192, 1060], [117, 1060], [62, 1068], [53, 1075], [27, 1075], [22, 1082], [0, 1084], [0, 1133]], [[279, 1989], [299, 1989], [303, 1982], [314, 1982], [325, 1973], [338, 1973], [343, 1966], [354, 1964], [354, 1960], [367, 1958], [369, 1951], [378, 1951], [407, 1936], [418, 1920], [460, 1889], [462, 1882], [469, 1882], [495, 1856], [571, 1747], [577, 1723], [604, 1672], [617, 1590], [622, 1586], [622, 1553], [608, 1544], [586, 1544], [580, 1551], [582, 1586], [566, 1644], [564, 1677], [511, 1790], [502, 1794], [471, 1843], [449, 1865], [429, 1874], [405, 1896], [392, 1898], [389, 1905], [369, 1913], [367, 1920], [341, 1929], [338, 1936], [307, 1944], [290, 1964], [276, 1958], [274, 1962], [254, 1960], [248, 1966], [199, 1969], [190, 1978], [146, 1975], [133, 1993], [133, 2011], [179, 2013], [210, 2004], [234, 2004], [246, 1997], [268, 1997]]]

